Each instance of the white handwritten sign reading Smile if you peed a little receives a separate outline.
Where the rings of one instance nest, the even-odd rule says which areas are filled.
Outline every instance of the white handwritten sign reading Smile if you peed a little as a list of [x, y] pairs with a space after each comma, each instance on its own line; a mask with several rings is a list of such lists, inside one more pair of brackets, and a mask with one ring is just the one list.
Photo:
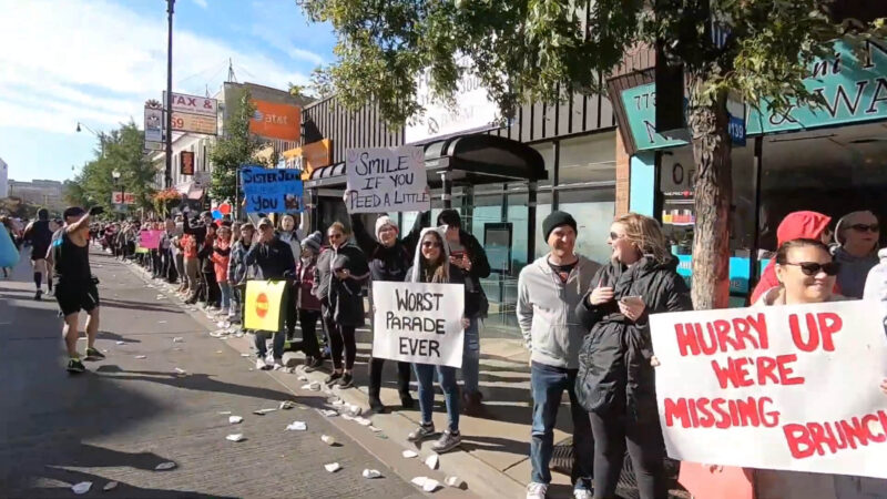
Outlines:
[[421, 147], [349, 149], [345, 152], [348, 174], [348, 213], [428, 211], [431, 195]]

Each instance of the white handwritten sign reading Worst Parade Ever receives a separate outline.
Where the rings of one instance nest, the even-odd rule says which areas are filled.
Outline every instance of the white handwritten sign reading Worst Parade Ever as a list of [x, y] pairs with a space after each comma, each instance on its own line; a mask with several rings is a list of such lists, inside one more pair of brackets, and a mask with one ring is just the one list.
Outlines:
[[373, 283], [373, 357], [462, 367], [465, 286]]

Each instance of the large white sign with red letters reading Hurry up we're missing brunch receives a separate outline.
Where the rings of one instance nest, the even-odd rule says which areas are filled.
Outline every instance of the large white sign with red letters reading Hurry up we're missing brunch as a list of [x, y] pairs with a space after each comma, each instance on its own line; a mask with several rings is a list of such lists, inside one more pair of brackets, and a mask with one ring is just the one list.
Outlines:
[[669, 456], [887, 478], [887, 338], [870, 303], [650, 316]]

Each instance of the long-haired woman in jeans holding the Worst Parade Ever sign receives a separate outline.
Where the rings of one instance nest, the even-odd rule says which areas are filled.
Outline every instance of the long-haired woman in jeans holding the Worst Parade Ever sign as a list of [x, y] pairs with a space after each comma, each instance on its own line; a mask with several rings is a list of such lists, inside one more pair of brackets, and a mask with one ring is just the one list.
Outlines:
[[[419, 247], [414, 257], [412, 267], [407, 271], [408, 283], [450, 283], [465, 284], [459, 267], [450, 263], [450, 248], [441, 228], [425, 228], [419, 236]], [[468, 296], [466, 296], [467, 298]], [[468, 327], [468, 319], [462, 317], [462, 325]], [[409, 434], [407, 439], [419, 442], [435, 435], [435, 422], [431, 411], [435, 407], [434, 376], [437, 371], [440, 388], [447, 401], [447, 429], [438, 441], [431, 446], [435, 452], [452, 450], [462, 442], [459, 434], [459, 387], [456, 384], [456, 368], [449, 366], [432, 366], [430, 364], [414, 364], [416, 379], [419, 381], [419, 411], [421, 424]]]

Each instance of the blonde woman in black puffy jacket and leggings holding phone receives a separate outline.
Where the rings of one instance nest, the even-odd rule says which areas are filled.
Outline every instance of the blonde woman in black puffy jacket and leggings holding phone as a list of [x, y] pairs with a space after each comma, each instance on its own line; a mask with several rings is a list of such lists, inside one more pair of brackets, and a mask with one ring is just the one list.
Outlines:
[[594, 435], [594, 497], [615, 497], [628, 448], [642, 499], [667, 497], [656, 409], [650, 314], [690, 310], [690, 289], [659, 222], [630, 213], [610, 227], [609, 265], [577, 307], [590, 329], [579, 355], [577, 397]]

